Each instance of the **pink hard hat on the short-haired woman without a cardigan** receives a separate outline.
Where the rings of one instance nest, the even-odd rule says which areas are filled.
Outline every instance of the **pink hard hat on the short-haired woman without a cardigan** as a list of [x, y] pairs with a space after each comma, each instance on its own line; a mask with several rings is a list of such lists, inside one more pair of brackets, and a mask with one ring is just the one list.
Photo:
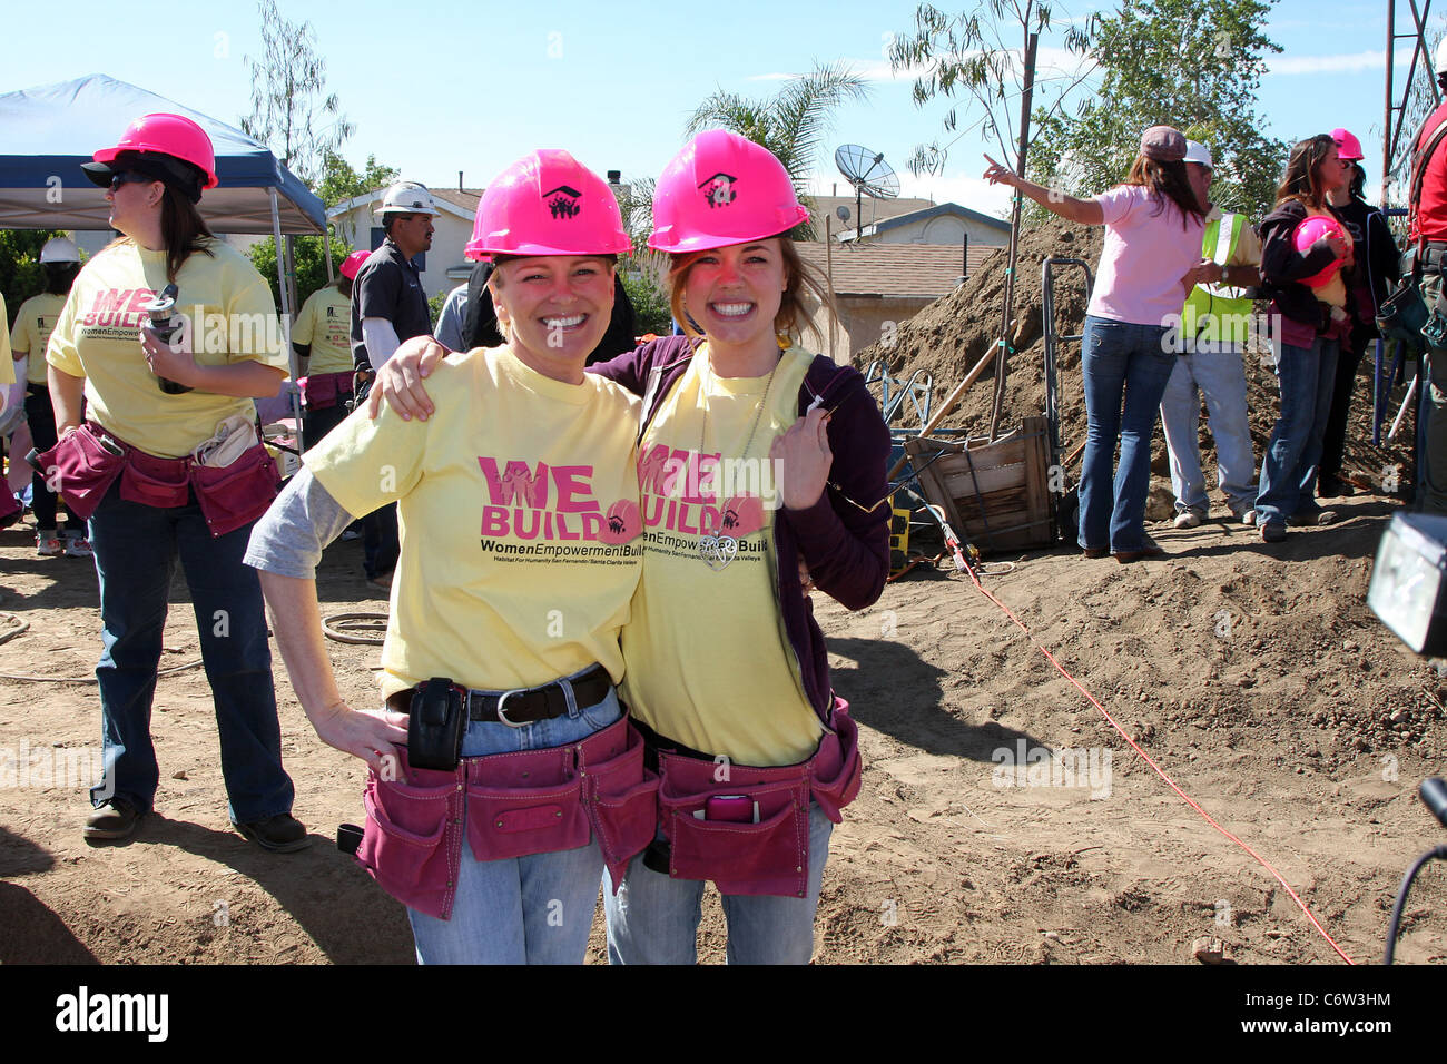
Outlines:
[[466, 255], [619, 255], [632, 250], [608, 184], [572, 155], [541, 149], [488, 185]]

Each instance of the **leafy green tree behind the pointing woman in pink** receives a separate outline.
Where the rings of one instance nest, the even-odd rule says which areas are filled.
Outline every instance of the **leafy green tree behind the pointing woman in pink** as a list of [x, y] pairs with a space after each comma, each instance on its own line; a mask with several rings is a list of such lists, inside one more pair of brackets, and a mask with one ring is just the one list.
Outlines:
[[[1126, 0], [1101, 19], [1091, 48], [1098, 85], [1077, 117], [1042, 122], [1032, 177], [1091, 195], [1130, 169], [1140, 132], [1181, 129], [1211, 151], [1211, 198], [1226, 210], [1265, 214], [1276, 200], [1286, 145], [1265, 136], [1256, 93], [1275, 0]], [[1304, 130], [1317, 133], [1321, 130]]]

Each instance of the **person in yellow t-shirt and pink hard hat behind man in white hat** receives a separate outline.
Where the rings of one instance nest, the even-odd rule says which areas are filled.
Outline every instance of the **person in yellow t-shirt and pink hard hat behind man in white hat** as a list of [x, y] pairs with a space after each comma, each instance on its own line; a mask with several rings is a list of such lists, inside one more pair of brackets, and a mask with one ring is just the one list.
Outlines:
[[347, 415], [352, 395], [352, 281], [370, 252], [341, 261], [336, 284], [323, 285], [301, 304], [291, 327], [291, 346], [301, 359], [301, 434], [307, 447]]

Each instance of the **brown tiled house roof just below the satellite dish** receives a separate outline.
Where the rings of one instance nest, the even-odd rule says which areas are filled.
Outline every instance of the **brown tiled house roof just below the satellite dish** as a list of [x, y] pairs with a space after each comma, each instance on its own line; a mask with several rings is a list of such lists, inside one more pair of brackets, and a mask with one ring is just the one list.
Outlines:
[[[822, 243], [796, 240], [799, 256], [826, 272], [832, 258], [833, 291], [839, 297], [864, 295], [904, 300], [938, 300], [959, 284], [959, 248], [938, 243], [836, 245], [832, 256]], [[969, 249], [969, 272], [994, 248]]]

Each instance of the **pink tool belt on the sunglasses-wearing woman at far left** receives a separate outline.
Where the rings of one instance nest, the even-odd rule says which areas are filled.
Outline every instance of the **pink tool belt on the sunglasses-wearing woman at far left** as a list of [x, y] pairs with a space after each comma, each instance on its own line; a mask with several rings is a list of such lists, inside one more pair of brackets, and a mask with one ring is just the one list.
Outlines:
[[276, 462], [260, 444], [232, 465], [204, 466], [188, 457], [158, 457], [119, 440], [94, 421], [69, 433], [39, 456], [45, 475], [55, 475], [67, 508], [81, 518], [96, 512], [110, 485], [120, 497], [146, 507], [184, 507], [195, 491], [211, 536], [226, 536], [255, 521], [276, 498]]

